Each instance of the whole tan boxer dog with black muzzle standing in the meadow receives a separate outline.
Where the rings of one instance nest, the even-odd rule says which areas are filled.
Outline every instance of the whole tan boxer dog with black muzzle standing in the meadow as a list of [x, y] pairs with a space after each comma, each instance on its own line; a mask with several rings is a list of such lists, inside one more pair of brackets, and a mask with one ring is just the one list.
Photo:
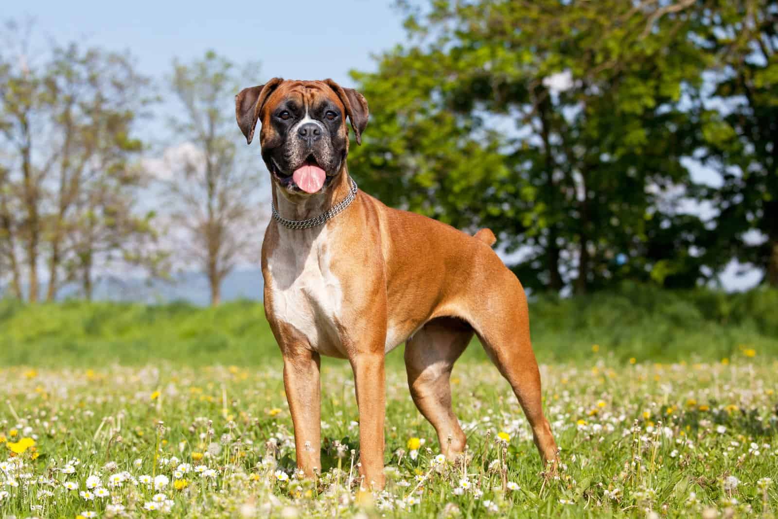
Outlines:
[[248, 144], [261, 122], [272, 178], [265, 313], [283, 356], [297, 466], [308, 476], [321, 470], [320, 356], [345, 358], [359, 407], [359, 472], [365, 486], [383, 488], [384, 355], [403, 342], [413, 401], [443, 454], [463, 452], [449, 379], [475, 333], [513, 388], [541, 458], [555, 467], [527, 299], [492, 250], [492, 232], [467, 235], [357, 189], [345, 120], [361, 144], [368, 107], [353, 89], [273, 78], [242, 90], [235, 112]]

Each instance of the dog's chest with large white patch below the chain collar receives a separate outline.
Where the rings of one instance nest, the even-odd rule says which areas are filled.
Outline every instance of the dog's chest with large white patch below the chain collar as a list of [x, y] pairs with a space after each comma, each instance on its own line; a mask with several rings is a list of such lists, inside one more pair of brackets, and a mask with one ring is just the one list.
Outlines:
[[268, 286], [276, 319], [306, 336], [314, 350], [339, 356], [343, 294], [328, 245], [326, 228], [288, 233], [268, 257]]

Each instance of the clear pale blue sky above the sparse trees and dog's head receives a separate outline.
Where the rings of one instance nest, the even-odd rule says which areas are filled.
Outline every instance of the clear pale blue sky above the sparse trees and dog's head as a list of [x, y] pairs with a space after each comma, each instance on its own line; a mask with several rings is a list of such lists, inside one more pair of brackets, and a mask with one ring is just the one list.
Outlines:
[[260, 61], [258, 82], [331, 77], [352, 85], [350, 69], [374, 69], [370, 55], [405, 36], [392, 0], [3, 3], [3, 19], [30, 16], [38, 33], [60, 44], [128, 49], [157, 78], [170, 72], [173, 57], [190, 61], [212, 49], [237, 64]]

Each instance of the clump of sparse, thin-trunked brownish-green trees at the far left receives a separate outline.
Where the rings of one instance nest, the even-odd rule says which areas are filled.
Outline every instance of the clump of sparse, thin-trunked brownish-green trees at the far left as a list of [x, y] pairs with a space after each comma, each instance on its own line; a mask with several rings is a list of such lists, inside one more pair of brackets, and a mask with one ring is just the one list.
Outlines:
[[135, 214], [131, 197], [143, 182], [133, 133], [148, 79], [127, 54], [79, 44], [31, 53], [29, 30], [8, 28], [16, 36], [0, 54], [0, 254], [17, 297], [24, 271], [38, 300], [43, 259], [48, 300], [72, 280], [89, 297], [93, 270], [108, 259], [157, 259], [124, 249], [155, 235], [152, 213]]

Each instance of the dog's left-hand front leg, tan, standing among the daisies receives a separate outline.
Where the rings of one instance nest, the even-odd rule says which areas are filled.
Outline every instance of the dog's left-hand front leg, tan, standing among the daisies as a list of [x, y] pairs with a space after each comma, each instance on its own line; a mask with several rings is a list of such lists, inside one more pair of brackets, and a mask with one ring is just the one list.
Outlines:
[[321, 472], [321, 357], [307, 347], [286, 348], [284, 388], [294, 423], [297, 468], [307, 477]]

